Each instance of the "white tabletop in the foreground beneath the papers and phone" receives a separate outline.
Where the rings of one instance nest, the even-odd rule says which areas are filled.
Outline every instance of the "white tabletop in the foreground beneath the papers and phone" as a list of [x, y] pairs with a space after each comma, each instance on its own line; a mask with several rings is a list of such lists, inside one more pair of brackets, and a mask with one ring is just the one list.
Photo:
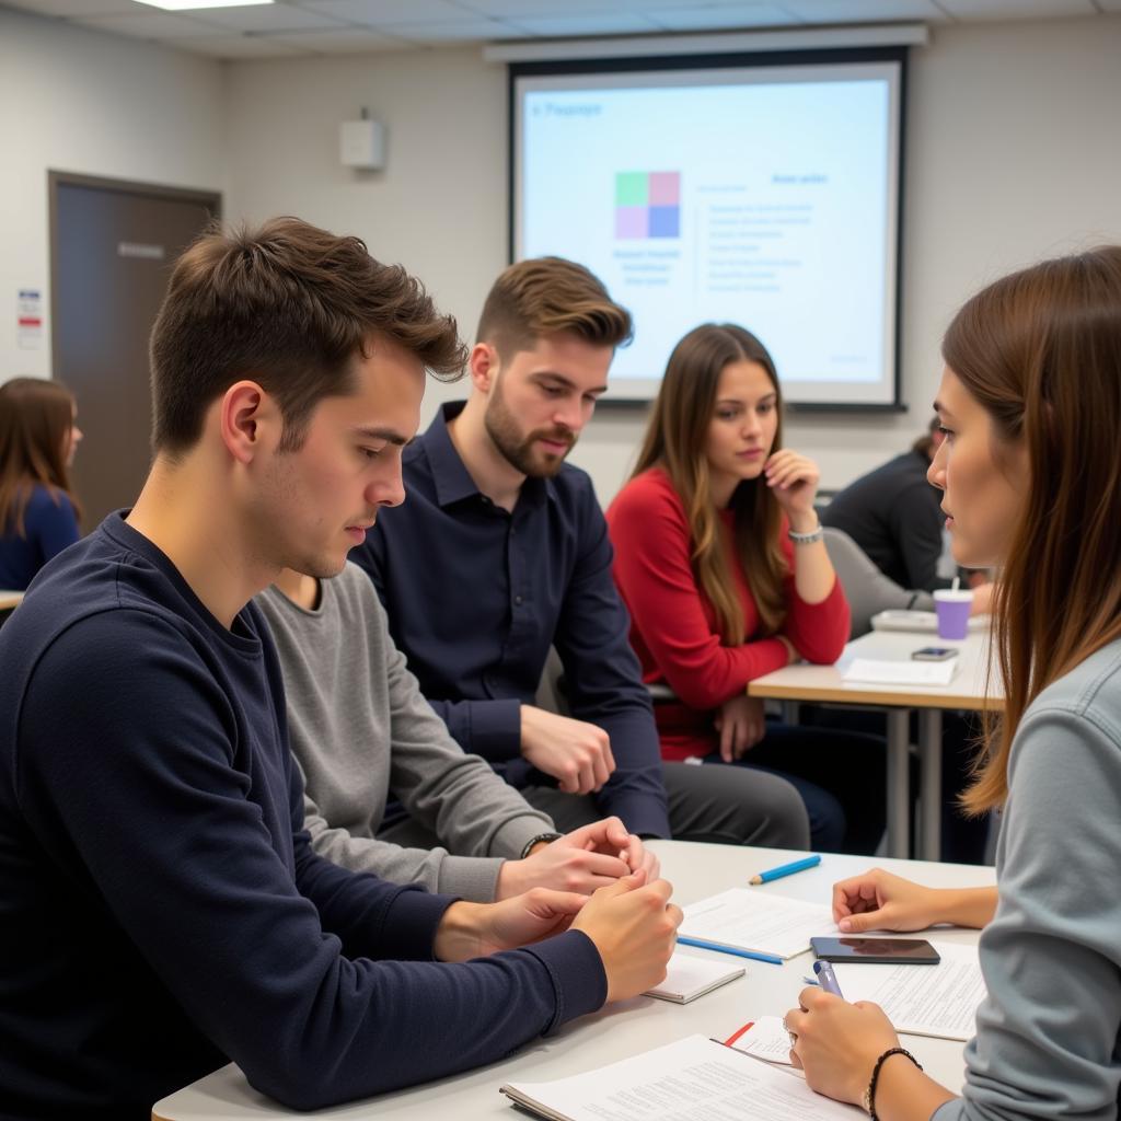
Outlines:
[[[651, 847], [661, 859], [664, 874], [674, 883], [674, 898], [678, 904], [694, 902], [729, 887], [741, 887], [758, 871], [805, 855], [775, 849], [740, 849], [684, 841], [655, 841]], [[880, 863], [934, 887], [973, 887], [994, 882], [991, 868], [901, 860]], [[826, 904], [835, 880], [864, 871], [868, 867], [865, 856], [825, 855], [816, 869], [754, 890]], [[939, 929], [937, 937], [943, 942], [972, 944], [976, 942], [978, 933]], [[614, 1004], [595, 1016], [568, 1023], [547, 1039], [531, 1041], [510, 1058], [482, 1069], [324, 1110], [315, 1117], [319, 1121], [432, 1121], [433, 1118], [515, 1121], [520, 1114], [512, 1112], [507, 1099], [499, 1094], [502, 1083], [578, 1074], [694, 1032], [725, 1039], [757, 1016], [781, 1016], [793, 1008], [804, 986], [802, 978], [810, 972], [813, 961], [808, 952], [784, 965], [742, 961], [698, 949], [691, 949], [689, 953], [715, 957], [729, 964], [742, 964], [747, 967], [747, 975], [691, 1004], [671, 1004], [648, 997]], [[953, 1088], [961, 1086], [964, 1073], [961, 1043], [907, 1036], [905, 1046], [915, 1053], [933, 1077]], [[371, 1057], [371, 1060], [376, 1058]], [[250, 1118], [262, 1121], [306, 1115], [286, 1111], [258, 1094], [233, 1065], [165, 1097], [152, 1110], [152, 1118], [158, 1121], [245, 1121]], [[854, 1108], [854, 1121], [860, 1115]]]

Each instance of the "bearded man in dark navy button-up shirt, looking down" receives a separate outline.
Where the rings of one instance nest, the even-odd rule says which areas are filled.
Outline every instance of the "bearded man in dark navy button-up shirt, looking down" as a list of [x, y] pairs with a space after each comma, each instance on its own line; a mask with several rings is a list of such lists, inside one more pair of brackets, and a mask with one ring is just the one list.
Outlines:
[[[466, 751], [569, 831], [804, 847], [784, 779], [663, 766], [589, 476], [566, 464], [631, 319], [582, 266], [510, 266], [483, 306], [474, 391], [405, 452], [408, 501], [355, 549], [421, 693]], [[554, 647], [572, 717], [534, 704]], [[414, 823], [416, 824], [416, 823]], [[387, 815], [398, 843], [430, 837]]]

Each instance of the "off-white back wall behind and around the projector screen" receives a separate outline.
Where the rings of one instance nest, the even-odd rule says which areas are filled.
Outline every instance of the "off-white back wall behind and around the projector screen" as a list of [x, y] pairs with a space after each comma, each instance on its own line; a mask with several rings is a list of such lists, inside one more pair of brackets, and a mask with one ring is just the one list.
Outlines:
[[[232, 67], [230, 212], [290, 211], [359, 233], [425, 279], [470, 333], [506, 263], [506, 73], [478, 48]], [[383, 173], [339, 166], [361, 105], [389, 128]], [[840, 487], [929, 417], [938, 340], [970, 291], [1040, 256], [1121, 241], [1121, 17], [937, 27], [912, 53], [904, 219], [901, 416], [790, 419], [787, 442]], [[580, 174], [578, 152], [573, 175]], [[750, 324], [748, 324], [750, 326]], [[780, 371], [781, 372], [781, 371]], [[454, 396], [448, 389], [429, 393]], [[602, 500], [642, 428], [601, 407], [573, 454]]]

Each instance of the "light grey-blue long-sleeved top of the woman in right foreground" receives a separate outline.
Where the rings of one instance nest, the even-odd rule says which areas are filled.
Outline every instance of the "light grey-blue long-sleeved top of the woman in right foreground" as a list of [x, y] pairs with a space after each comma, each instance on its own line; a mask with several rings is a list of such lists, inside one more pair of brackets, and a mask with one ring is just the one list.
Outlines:
[[937, 1121], [1118, 1117], [1121, 1087], [1121, 641], [1045, 689], [1012, 745], [981, 935], [989, 994], [964, 1096]]

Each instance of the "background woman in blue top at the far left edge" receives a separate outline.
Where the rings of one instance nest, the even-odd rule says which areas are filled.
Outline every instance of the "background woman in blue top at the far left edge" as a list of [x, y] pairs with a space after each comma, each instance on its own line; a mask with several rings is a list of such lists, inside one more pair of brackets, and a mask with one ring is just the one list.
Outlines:
[[22, 591], [78, 539], [70, 466], [82, 438], [74, 397], [57, 381], [0, 385], [0, 587]]

